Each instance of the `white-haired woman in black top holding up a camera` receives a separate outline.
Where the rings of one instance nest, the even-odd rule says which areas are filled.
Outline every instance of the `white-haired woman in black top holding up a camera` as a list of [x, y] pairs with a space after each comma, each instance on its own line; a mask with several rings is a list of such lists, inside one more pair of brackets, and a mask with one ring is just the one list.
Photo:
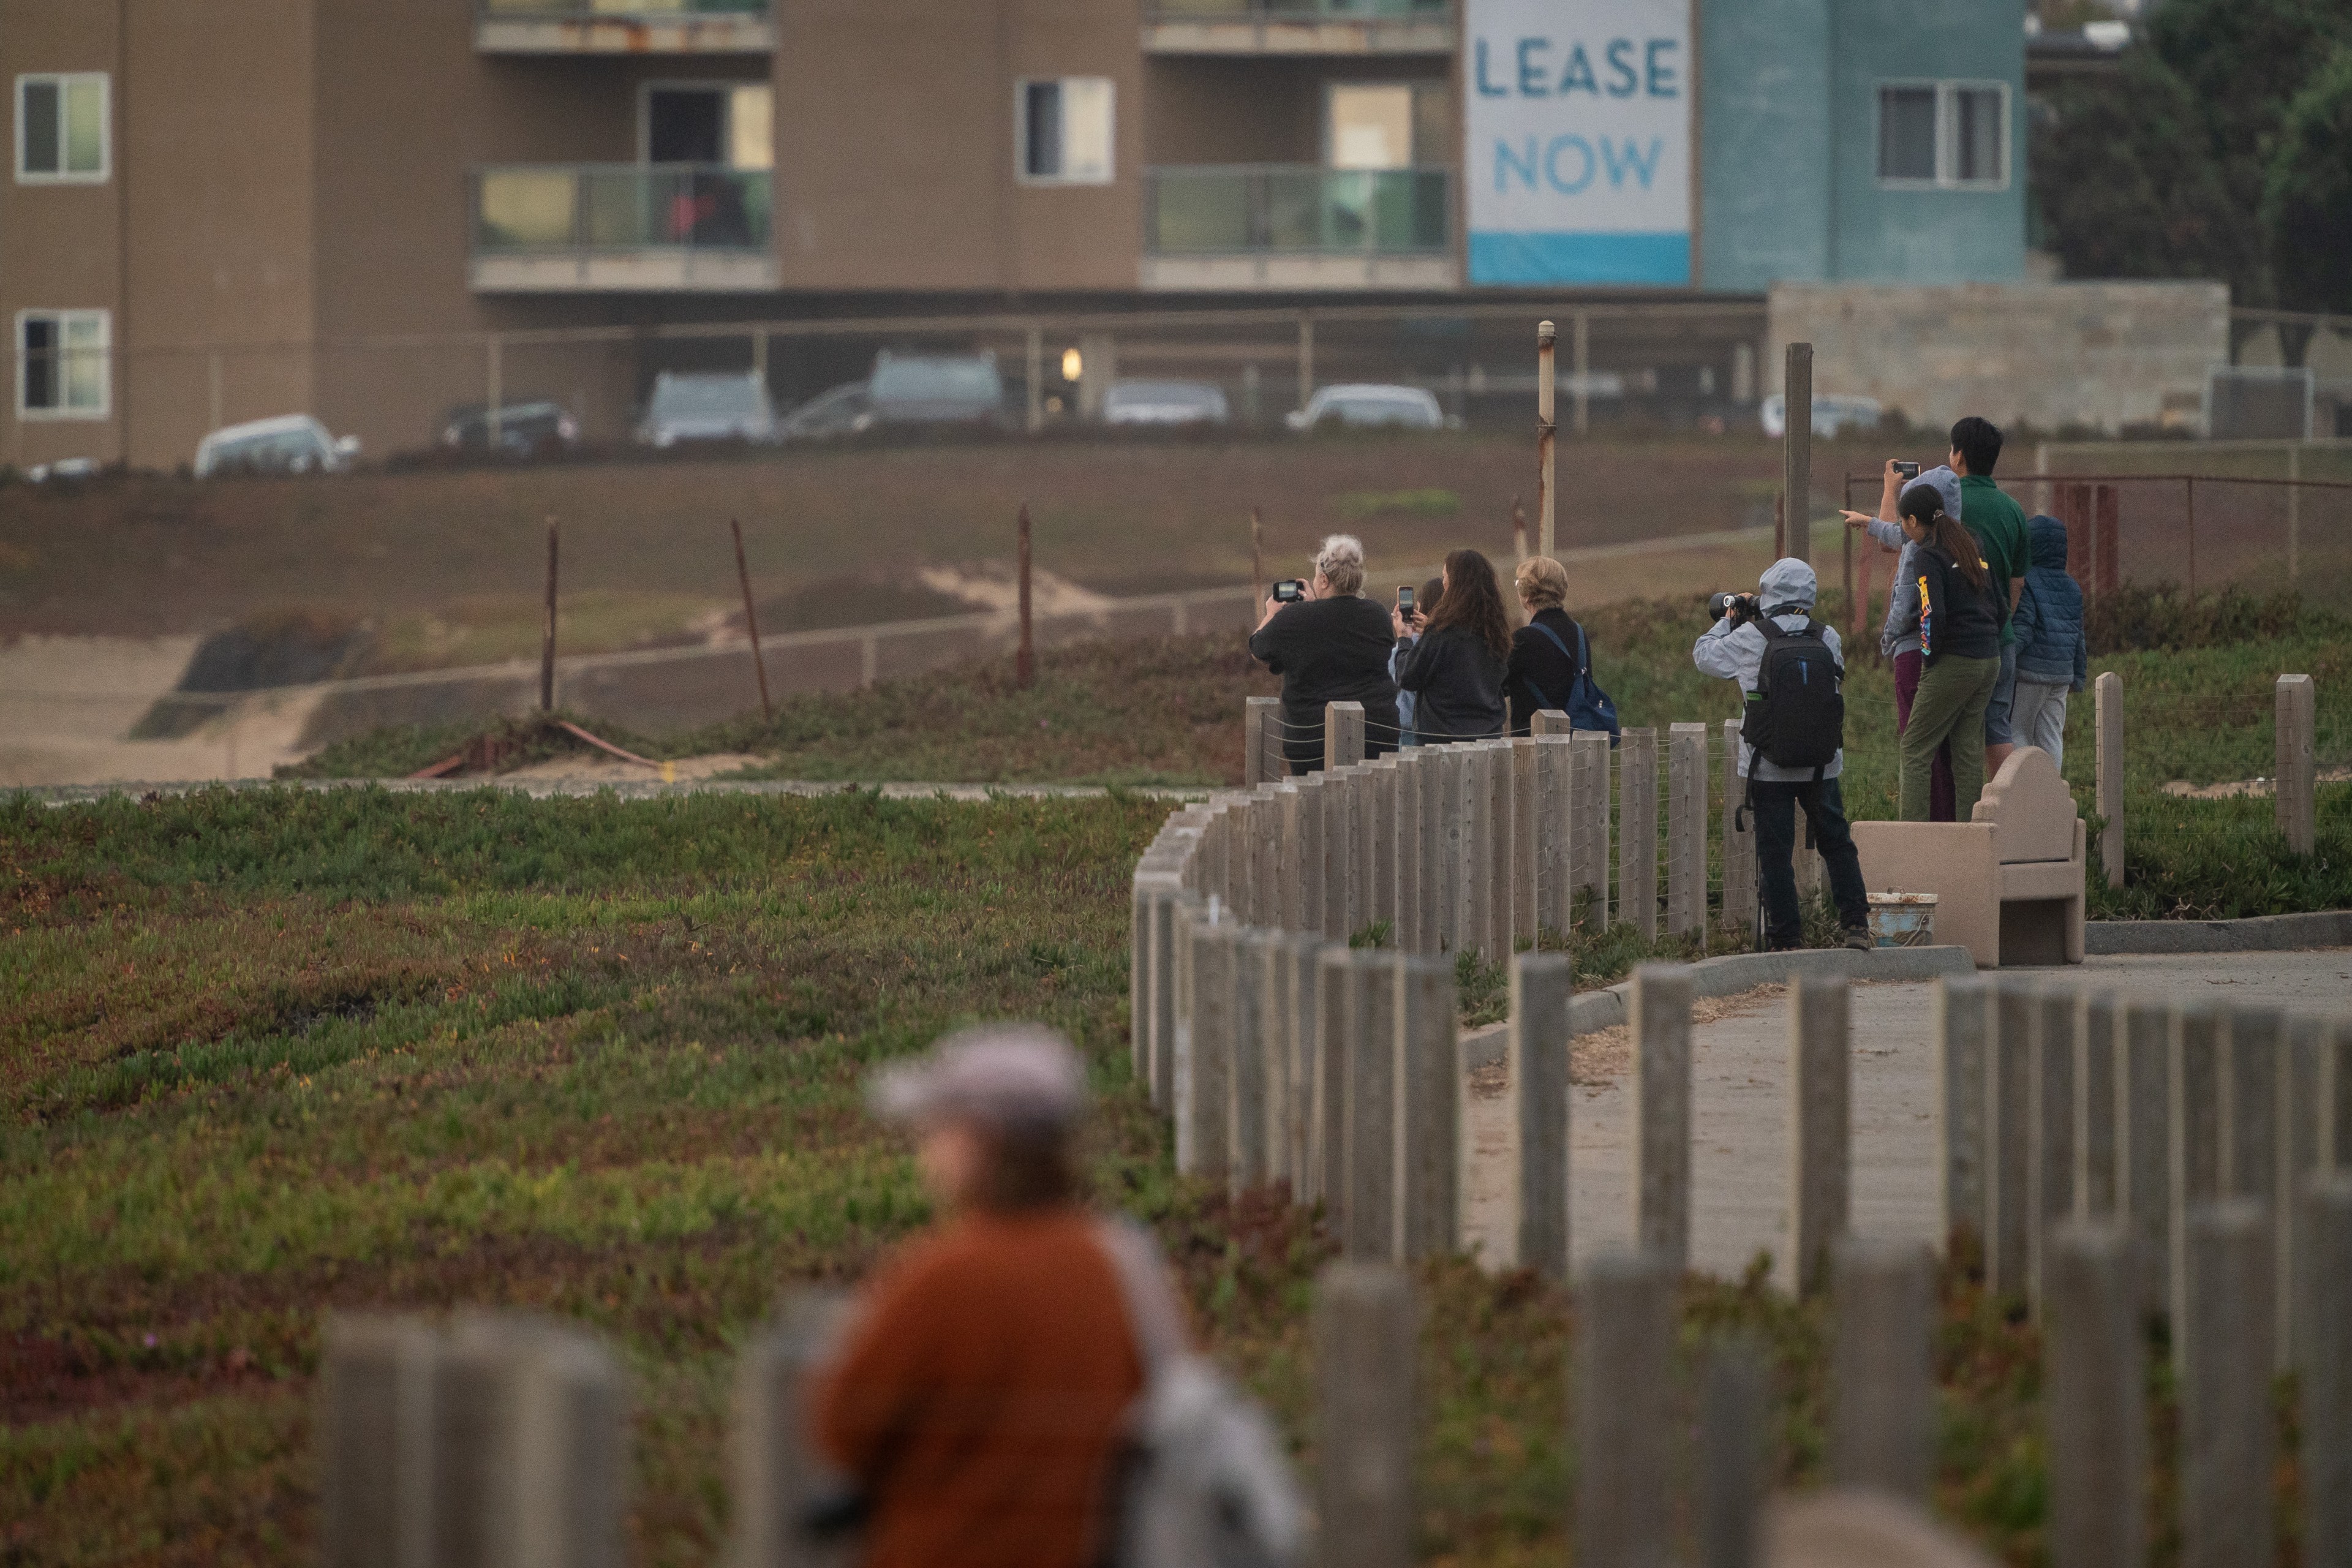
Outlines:
[[1364, 597], [1364, 541], [1352, 534], [1322, 543], [1303, 599], [1265, 597], [1249, 651], [1282, 677], [1282, 755], [1291, 773], [1322, 766], [1324, 703], [1364, 705], [1367, 757], [1397, 750], [1392, 644], [1388, 611]]

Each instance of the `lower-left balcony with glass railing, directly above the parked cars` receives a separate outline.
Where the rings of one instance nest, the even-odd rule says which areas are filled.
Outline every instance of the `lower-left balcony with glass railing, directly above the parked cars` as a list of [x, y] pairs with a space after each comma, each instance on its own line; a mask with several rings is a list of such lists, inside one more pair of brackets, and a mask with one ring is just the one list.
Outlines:
[[774, 289], [767, 169], [506, 165], [473, 174], [482, 294]]

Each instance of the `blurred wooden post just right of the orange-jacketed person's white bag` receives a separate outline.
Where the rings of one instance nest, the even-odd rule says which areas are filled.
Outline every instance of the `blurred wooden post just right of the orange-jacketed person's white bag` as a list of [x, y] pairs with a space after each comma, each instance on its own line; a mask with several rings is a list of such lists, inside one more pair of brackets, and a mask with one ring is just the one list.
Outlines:
[[1414, 1363], [1418, 1324], [1402, 1269], [1331, 1262], [1315, 1284], [1322, 1415], [1315, 1495], [1324, 1563], [1414, 1563]]

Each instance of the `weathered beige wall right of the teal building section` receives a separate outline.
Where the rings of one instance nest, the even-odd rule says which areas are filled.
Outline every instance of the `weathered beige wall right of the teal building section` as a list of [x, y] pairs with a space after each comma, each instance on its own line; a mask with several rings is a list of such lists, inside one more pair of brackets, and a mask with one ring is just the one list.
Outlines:
[[1964, 414], [2042, 430], [2194, 418], [2230, 360], [2218, 282], [1773, 284], [1766, 390], [1813, 346], [1813, 390], [1877, 397], [1915, 423]]

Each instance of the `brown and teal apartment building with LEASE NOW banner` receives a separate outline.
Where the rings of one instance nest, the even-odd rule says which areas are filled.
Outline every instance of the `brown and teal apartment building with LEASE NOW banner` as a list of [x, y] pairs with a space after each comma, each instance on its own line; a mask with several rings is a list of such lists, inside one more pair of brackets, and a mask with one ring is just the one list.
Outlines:
[[581, 327], [2023, 273], [2013, 0], [0, 0], [0, 80], [19, 465], [485, 355], [612, 435]]

